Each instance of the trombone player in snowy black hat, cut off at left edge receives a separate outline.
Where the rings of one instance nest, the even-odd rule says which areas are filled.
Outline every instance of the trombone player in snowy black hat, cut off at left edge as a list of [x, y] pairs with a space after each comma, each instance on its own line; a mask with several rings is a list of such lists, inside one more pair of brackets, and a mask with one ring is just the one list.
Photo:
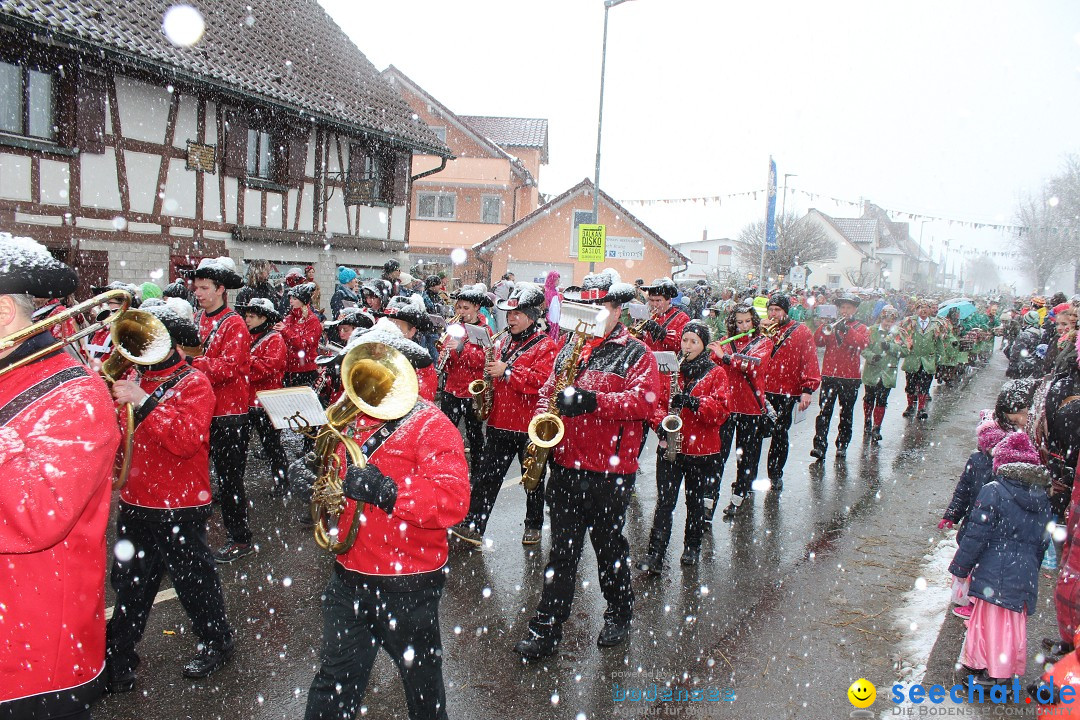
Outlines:
[[[0, 233], [0, 337], [73, 270]], [[0, 716], [89, 720], [105, 682], [105, 533], [120, 430], [105, 382], [42, 331], [0, 351]], [[78, 461], [72, 462], [72, 454]]]

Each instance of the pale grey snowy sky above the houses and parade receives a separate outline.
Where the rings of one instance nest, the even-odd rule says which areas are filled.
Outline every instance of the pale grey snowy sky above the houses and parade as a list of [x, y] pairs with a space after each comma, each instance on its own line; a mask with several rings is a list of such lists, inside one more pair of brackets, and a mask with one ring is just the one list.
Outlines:
[[[602, 0], [320, 1], [377, 67], [454, 111], [548, 118], [541, 191], [592, 177]], [[1078, 150], [1078, 90], [1075, 1], [634, 0], [610, 11], [600, 186], [619, 200], [753, 190], [771, 153], [791, 188], [1012, 222], [1017, 196]], [[787, 206], [858, 215], [794, 193]], [[683, 242], [737, 234], [764, 200], [629, 208]], [[935, 257], [946, 237], [1008, 241], [926, 223]]]

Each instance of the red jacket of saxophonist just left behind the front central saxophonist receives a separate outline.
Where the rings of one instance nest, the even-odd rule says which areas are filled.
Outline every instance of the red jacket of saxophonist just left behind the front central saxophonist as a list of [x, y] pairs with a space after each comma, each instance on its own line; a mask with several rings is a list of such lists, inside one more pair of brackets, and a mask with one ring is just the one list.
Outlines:
[[[514, 357], [526, 345], [528, 350]], [[495, 356], [503, 363], [510, 362], [510, 367], [504, 377], [495, 378], [495, 402], [487, 418], [489, 427], [515, 433], [528, 431], [540, 399], [540, 388], [551, 376], [556, 354], [555, 343], [539, 330], [521, 341], [502, 338]]]

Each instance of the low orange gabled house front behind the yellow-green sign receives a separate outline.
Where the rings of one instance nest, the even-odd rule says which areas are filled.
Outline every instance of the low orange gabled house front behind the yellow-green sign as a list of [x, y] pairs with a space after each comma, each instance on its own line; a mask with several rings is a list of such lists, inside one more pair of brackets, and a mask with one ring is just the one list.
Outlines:
[[[580, 285], [589, 263], [578, 260], [578, 226], [593, 220], [593, 184], [588, 178], [472, 249], [489, 276], [513, 272], [518, 281], [542, 283], [551, 270], [559, 285]], [[607, 259], [596, 271], [613, 268], [623, 281], [671, 276], [689, 259], [603, 190], [599, 221], [607, 226]], [[477, 274], [487, 274], [483, 269]]]

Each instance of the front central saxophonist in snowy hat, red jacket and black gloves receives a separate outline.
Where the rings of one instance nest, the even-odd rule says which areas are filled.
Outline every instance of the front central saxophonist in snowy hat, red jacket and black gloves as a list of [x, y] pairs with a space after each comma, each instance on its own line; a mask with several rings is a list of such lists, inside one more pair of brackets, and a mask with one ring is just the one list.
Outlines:
[[[630, 546], [622, 533], [634, 488], [637, 453], [645, 421], [652, 411], [660, 377], [648, 349], [619, 322], [622, 303], [634, 288], [613, 270], [588, 275], [580, 301], [600, 305], [600, 338], [590, 338], [581, 352], [572, 385], [552, 397], [572, 347], [568, 340], [551, 377], [540, 389], [537, 412], [554, 402], [563, 416], [565, 437], [552, 448], [545, 500], [551, 513], [551, 555], [529, 637], [515, 650], [526, 658], [554, 654], [570, 616], [578, 563], [590, 531], [600, 587], [607, 600], [602, 648], [630, 638], [634, 592], [630, 578]], [[568, 298], [572, 299], [572, 298]], [[566, 314], [566, 307], [563, 308]]]

